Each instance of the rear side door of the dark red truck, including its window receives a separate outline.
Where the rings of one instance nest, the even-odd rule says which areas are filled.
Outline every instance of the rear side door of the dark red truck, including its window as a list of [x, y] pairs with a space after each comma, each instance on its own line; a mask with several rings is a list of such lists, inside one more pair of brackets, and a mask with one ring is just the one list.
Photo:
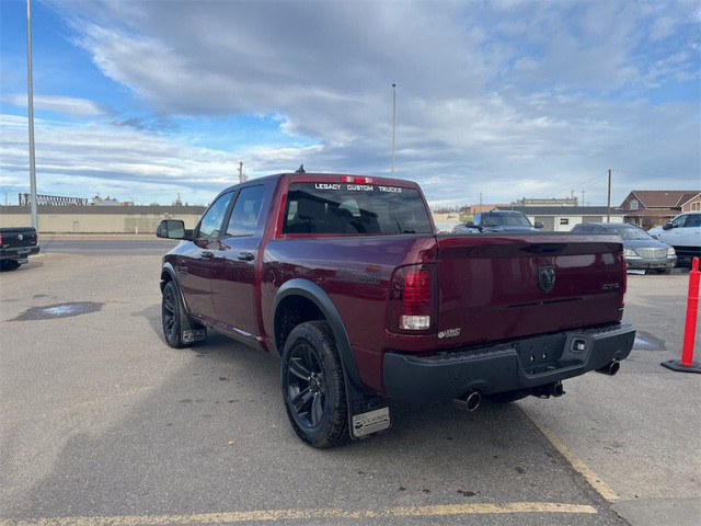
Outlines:
[[261, 332], [255, 276], [265, 227], [265, 217], [261, 214], [265, 188], [258, 184], [239, 191], [211, 263], [216, 319], [244, 336]]

